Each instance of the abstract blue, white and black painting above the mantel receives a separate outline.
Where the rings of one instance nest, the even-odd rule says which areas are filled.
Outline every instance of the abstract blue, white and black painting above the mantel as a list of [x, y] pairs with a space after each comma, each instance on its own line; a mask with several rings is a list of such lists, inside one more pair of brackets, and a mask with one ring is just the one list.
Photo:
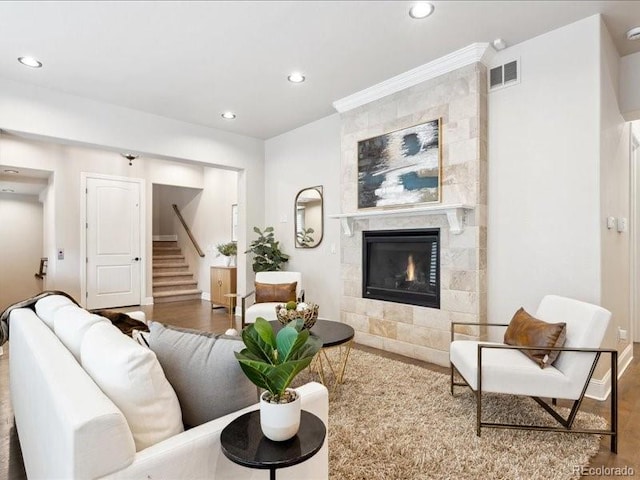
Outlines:
[[442, 117], [359, 140], [358, 210], [442, 201]]

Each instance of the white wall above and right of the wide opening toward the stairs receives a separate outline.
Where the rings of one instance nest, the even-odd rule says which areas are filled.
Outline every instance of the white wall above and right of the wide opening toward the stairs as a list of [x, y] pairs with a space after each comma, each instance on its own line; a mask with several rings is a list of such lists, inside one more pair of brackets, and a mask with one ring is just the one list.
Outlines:
[[[157, 159], [237, 170], [240, 249], [245, 248], [247, 228], [264, 222], [264, 142], [260, 139], [6, 79], [0, 79], [0, 129], [55, 143], [133, 151]], [[149, 228], [150, 224], [151, 215]], [[239, 272], [244, 272], [238, 275], [243, 291], [247, 280], [253, 283], [253, 273], [244, 256], [238, 262]]]

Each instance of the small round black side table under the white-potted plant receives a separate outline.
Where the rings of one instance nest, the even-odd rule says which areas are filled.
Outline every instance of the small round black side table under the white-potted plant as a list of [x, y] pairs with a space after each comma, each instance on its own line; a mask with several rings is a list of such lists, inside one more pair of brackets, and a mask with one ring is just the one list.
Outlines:
[[224, 427], [220, 434], [222, 453], [234, 463], [249, 468], [276, 469], [297, 465], [313, 457], [324, 443], [327, 429], [318, 417], [302, 410], [298, 434], [284, 442], [274, 442], [262, 434], [260, 411], [245, 413]]

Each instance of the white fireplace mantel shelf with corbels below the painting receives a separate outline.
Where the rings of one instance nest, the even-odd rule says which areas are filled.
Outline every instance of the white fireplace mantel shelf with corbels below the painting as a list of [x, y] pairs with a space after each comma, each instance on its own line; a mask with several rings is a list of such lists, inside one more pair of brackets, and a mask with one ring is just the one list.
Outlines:
[[449, 220], [449, 231], [454, 234], [460, 234], [464, 231], [464, 218], [467, 210], [473, 210], [475, 207], [465, 204], [452, 205], [429, 205], [424, 207], [413, 208], [396, 208], [384, 210], [364, 210], [353, 213], [337, 213], [329, 215], [329, 218], [337, 218], [342, 225], [343, 233], [351, 237], [353, 236], [353, 221], [358, 218], [371, 217], [415, 217], [419, 215], [446, 215]]

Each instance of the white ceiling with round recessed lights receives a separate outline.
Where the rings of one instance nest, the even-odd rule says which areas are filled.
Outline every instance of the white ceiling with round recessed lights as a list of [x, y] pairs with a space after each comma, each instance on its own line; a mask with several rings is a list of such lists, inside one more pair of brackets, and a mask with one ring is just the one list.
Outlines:
[[[514, 45], [596, 13], [621, 55], [640, 51], [624, 39], [640, 25], [638, 1], [432, 3], [413, 20], [406, 1], [2, 1], [0, 77], [270, 138], [472, 43]], [[293, 70], [307, 81], [287, 82]]]

